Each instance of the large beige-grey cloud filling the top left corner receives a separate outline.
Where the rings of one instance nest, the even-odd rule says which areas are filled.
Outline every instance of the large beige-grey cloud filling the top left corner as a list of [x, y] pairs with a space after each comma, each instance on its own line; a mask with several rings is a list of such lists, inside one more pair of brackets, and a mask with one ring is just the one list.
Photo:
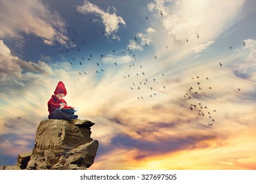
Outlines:
[[[18, 8], [17, 8], [18, 7]], [[39, 0], [1, 1], [0, 37], [24, 40], [22, 33], [40, 37], [45, 44], [66, 44], [65, 22]]]

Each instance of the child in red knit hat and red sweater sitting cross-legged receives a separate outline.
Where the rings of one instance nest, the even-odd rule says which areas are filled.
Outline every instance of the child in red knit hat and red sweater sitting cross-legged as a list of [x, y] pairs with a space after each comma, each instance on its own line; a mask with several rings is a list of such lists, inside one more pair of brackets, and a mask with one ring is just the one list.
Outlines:
[[63, 82], [58, 82], [54, 95], [48, 101], [49, 119], [68, 120], [76, 119], [77, 115], [74, 115], [74, 107], [67, 106], [66, 101], [63, 99], [67, 94], [65, 85]]

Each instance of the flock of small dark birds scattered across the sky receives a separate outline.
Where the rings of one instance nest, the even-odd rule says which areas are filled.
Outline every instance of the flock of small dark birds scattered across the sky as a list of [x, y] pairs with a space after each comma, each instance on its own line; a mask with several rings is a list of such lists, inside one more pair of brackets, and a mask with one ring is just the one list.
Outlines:
[[[75, 14], [77, 16], [77, 14]], [[160, 12], [160, 16], [163, 17], [163, 13]], [[146, 21], [148, 21], [148, 16], [146, 16]], [[75, 20], [77, 20], [77, 17], [75, 18]], [[91, 21], [92, 22], [92, 21]], [[71, 29], [70, 26], [68, 26], [69, 29]], [[106, 35], [106, 33], [104, 33], [104, 31], [102, 31], [102, 34], [103, 35]], [[75, 37], [77, 36], [77, 31], [75, 31], [75, 29], [73, 29], [73, 35], [74, 37], [72, 38], [72, 42], [75, 42], [76, 39]], [[196, 34], [196, 37], [197, 39], [200, 39], [200, 35], [198, 35], [198, 33]], [[134, 37], [135, 41], [137, 41], [137, 37]], [[70, 41], [68, 41], [70, 42]], [[85, 41], [80, 41], [80, 43], [83, 43], [85, 44]], [[186, 43], [188, 43], [188, 39], [186, 39], [185, 41]], [[148, 46], [147, 42], [144, 42], [144, 45], [145, 46]], [[244, 46], [245, 46], [245, 42], [244, 42]], [[168, 46], [165, 46], [165, 48], [168, 48]], [[74, 48], [75, 49], [75, 48]], [[77, 52], [81, 52], [81, 49], [80, 48], [76, 48]], [[230, 46], [230, 50], [232, 50], [232, 46]], [[67, 53], [69, 52], [68, 48], [60, 51], [60, 53], [64, 54], [64, 53]], [[146, 92], [146, 95], [137, 95], [137, 99], [145, 99], [146, 97], [156, 97], [158, 95], [158, 91], [161, 91], [161, 90], [165, 90], [166, 89], [166, 86], [164, 86], [162, 84], [162, 88], [155, 88], [154, 86], [160, 86], [159, 84], [156, 84], [156, 82], [158, 80], [160, 80], [159, 76], [158, 76], [158, 79], [156, 78], [146, 78], [146, 73], [143, 71], [143, 67], [141, 64], [138, 63], [137, 61], [137, 56], [135, 56], [135, 54], [129, 49], [127, 48], [127, 50], [122, 50], [123, 54], [124, 55], [129, 55], [131, 56], [131, 58], [133, 58], [133, 63], [129, 64], [129, 66], [127, 67], [137, 67], [137, 73], [133, 73], [133, 74], [125, 74], [123, 75], [123, 78], [133, 78], [134, 80], [132, 80], [131, 82], [131, 85], [129, 86], [131, 92], [134, 92], [135, 90], [142, 90], [142, 89], [145, 89], [148, 91]], [[112, 54], [117, 54], [117, 51], [116, 50], [112, 50], [110, 51], [110, 53]], [[119, 54], [119, 52], [118, 52]], [[152, 56], [153, 57], [153, 56]], [[83, 65], [84, 61], [91, 61], [91, 63], [94, 63], [95, 66], [96, 66], [96, 73], [97, 74], [100, 74], [100, 73], [105, 73], [104, 69], [100, 68], [100, 61], [98, 62], [94, 62], [95, 59], [96, 60], [99, 60], [99, 59], [103, 59], [104, 58], [104, 55], [99, 55], [99, 56], [93, 56], [92, 54], [90, 54], [87, 58], [85, 57], [81, 57], [81, 58], [73, 58], [72, 61], [70, 61], [70, 65], [74, 65], [74, 63], [79, 63], [79, 65]], [[157, 56], [154, 55], [154, 57], [152, 59], [157, 59]], [[118, 64], [117, 63], [113, 63], [114, 67], [118, 67]], [[219, 62], [219, 65], [220, 67], [223, 67], [223, 63]], [[139, 69], [140, 72], [139, 72]], [[88, 75], [88, 73], [86, 71], [80, 71], [79, 72], [79, 75]], [[165, 75], [162, 73], [161, 74], [161, 77], [164, 77]], [[196, 79], [199, 79], [200, 76], [195, 76], [195, 77], [191, 77], [192, 80], [196, 80]], [[209, 77], [206, 77], [205, 80], [209, 80]], [[184, 99], [192, 99], [192, 98], [196, 98], [196, 99], [200, 99], [200, 92], [202, 90], [211, 90], [212, 88], [209, 87], [209, 88], [204, 88], [202, 86], [202, 84], [199, 82], [199, 81], [196, 81], [196, 85], [195, 86], [190, 86], [188, 87], [188, 90], [186, 91], [186, 93], [184, 93]], [[145, 91], [145, 90], [144, 90]], [[241, 89], [238, 88], [238, 91], [240, 92]], [[197, 119], [200, 119], [200, 118], [208, 118], [209, 119], [209, 123], [208, 123], [208, 126], [209, 127], [213, 127], [213, 124], [215, 123], [215, 118], [214, 118], [214, 114], [217, 112], [217, 110], [209, 110], [209, 108], [207, 107], [207, 105], [203, 105], [202, 101], [199, 101], [198, 103], [191, 103], [189, 106], [188, 106], [189, 110], [191, 110], [192, 112], [196, 112], [197, 116], [196, 118]]]

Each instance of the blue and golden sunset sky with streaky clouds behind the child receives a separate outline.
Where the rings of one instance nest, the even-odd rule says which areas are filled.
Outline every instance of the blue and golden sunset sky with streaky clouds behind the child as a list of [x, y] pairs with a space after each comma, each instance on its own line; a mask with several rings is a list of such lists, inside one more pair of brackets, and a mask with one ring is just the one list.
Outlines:
[[[18, 7], [18, 8], [16, 8]], [[256, 1], [0, 1], [0, 165], [59, 81], [89, 169], [256, 169]]]

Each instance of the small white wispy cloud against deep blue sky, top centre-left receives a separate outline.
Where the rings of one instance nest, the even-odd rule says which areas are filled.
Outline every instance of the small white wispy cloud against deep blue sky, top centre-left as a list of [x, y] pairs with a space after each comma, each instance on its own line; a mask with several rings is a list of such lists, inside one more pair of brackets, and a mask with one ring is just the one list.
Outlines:
[[114, 8], [114, 12], [112, 14], [109, 12], [109, 10], [110, 8], [108, 8], [107, 11], [104, 11], [89, 1], [84, 1], [83, 6], [77, 7], [77, 11], [83, 14], [92, 13], [96, 16], [100, 16], [102, 19], [102, 24], [105, 27], [105, 35], [112, 35], [112, 39], [119, 40], [119, 37], [116, 36], [116, 33], [119, 29], [119, 25], [125, 25], [125, 21], [123, 18], [121, 18], [121, 16], [116, 15], [116, 8]]

